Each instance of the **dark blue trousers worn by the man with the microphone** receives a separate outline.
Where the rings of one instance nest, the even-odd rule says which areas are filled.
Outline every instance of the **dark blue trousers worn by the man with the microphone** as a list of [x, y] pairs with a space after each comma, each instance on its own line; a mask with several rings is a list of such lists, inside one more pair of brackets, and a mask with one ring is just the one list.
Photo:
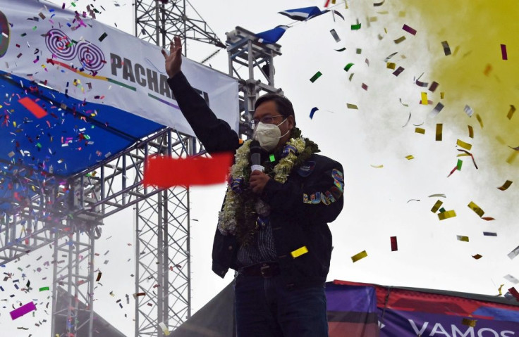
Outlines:
[[324, 284], [290, 289], [279, 276], [238, 274], [234, 293], [238, 337], [328, 337]]

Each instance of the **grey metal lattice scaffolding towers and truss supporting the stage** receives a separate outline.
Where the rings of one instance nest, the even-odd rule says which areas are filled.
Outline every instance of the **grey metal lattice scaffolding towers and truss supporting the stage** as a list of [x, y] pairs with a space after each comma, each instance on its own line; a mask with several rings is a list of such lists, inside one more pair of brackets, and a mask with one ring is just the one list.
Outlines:
[[[203, 20], [186, 14], [187, 1], [164, 2], [135, 2], [138, 37], [163, 47], [173, 34], [184, 39], [184, 46], [186, 39], [224, 46]], [[240, 27], [227, 33], [226, 43], [229, 75], [239, 80], [240, 134], [250, 137], [246, 125], [259, 94], [282, 94], [274, 87], [273, 63], [281, 46], [260, 44]], [[54, 249], [52, 336], [92, 337], [94, 241], [104, 218], [129, 207], [135, 210], [137, 237], [135, 336], [162, 337], [159, 323], [175, 329], [190, 317], [189, 189], [143, 186], [145, 161], [154, 154], [185, 157], [205, 151], [193, 136], [164, 128], [71, 177], [47, 174], [43, 182], [34, 182], [35, 196], [12, 201], [13, 211], [0, 218], [0, 264], [44, 246]], [[56, 305], [58, 286], [70, 299], [66, 307]], [[56, 317], [66, 317], [66, 326], [56, 326]]]

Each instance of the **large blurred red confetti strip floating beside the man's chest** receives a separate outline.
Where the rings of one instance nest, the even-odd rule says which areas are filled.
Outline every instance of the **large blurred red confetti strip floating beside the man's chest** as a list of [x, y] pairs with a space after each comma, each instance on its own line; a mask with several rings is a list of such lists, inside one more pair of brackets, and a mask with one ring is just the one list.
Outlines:
[[154, 155], [146, 161], [142, 183], [160, 188], [220, 184], [226, 181], [232, 161], [232, 153], [216, 153], [212, 158]]

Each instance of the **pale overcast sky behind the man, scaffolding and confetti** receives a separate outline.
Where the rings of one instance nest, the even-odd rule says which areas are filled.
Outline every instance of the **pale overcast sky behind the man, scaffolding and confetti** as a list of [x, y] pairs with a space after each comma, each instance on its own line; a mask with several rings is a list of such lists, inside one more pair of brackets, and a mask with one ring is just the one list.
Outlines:
[[[54, 2], [61, 4], [61, 1]], [[498, 52], [499, 57], [479, 60], [478, 48], [498, 51], [499, 44], [505, 43], [509, 51], [516, 51], [517, 44], [508, 36], [500, 35], [499, 28], [492, 34], [502, 38], [492, 42], [494, 44], [475, 44], [472, 28], [478, 24], [477, 20], [469, 16], [471, 13], [444, 10], [446, 7], [441, 6], [447, 6], [447, 1], [436, 1], [444, 19], [439, 20], [441, 15], [435, 14], [435, 25], [423, 14], [424, 8], [414, 8], [407, 1], [386, 1], [379, 7], [362, 2], [365, 1], [348, 1], [348, 9], [343, 2], [336, 6], [346, 20], [338, 16], [334, 20], [329, 13], [293, 25], [279, 41], [283, 55], [274, 59], [276, 87], [281, 87], [293, 101], [303, 135], [316, 141], [323, 155], [338, 160], [344, 167], [344, 209], [330, 224], [334, 250], [328, 279], [489, 295], [497, 295], [499, 286], [504, 284], [504, 293], [514, 284], [503, 276], [511, 274], [519, 278], [519, 260], [507, 256], [519, 246], [516, 229], [519, 160], [510, 159], [513, 150], [507, 148], [519, 145], [516, 132], [519, 116], [499, 120], [491, 117], [489, 111], [506, 115], [511, 104], [518, 104], [513, 101], [518, 87], [516, 82], [506, 90], [500, 87], [515, 76], [516, 70], [503, 68]], [[225, 41], [225, 32], [236, 26], [261, 32], [276, 25], [286, 25], [293, 21], [277, 12], [322, 6], [324, 1], [263, 0], [245, 4], [237, 0], [197, 0], [192, 3]], [[87, 4], [87, 1], [77, 1], [78, 7]], [[99, 1], [94, 3], [97, 8], [100, 5]], [[66, 6], [70, 7], [68, 1]], [[103, 1], [102, 6], [106, 12], [98, 15], [100, 21], [116, 24], [133, 34], [130, 1]], [[491, 18], [489, 15], [481, 20]], [[357, 20], [361, 29], [351, 30], [350, 26]], [[466, 27], [458, 38], [454, 36], [458, 29], [456, 25], [453, 27], [455, 21], [456, 25]], [[402, 30], [404, 24], [417, 30], [417, 34]], [[484, 26], [484, 22], [480, 25]], [[341, 41], [336, 42], [331, 29]], [[394, 40], [402, 36], [405, 40], [396, 44]], [[459, 51], [445, 56], [441, 45], [444, 40], [451, 44], [453, 53], [458, 46]], [[345, 51], [336, 51], [343, 47], [346, 47]], [[202, 51], [188, 44], [188, 57], [194, 61], [202, 61], [212, 51], [216, 48]], [[396, 63], [396, 68], [405, 68], [398, 77], [386, 68], [385, 62], [394, 52], [398, 53], [390, 62]], [[513, 58], [515, 55], [518, 53], [509, 53], [507, 66], [519, 68]], [[461, 64], [470, 62], [477, 64], [473, 70], [460, 68]], [[209, 63], [223, 72], [228, 70], [225, 51], [206, 64]], [[343, 68], [348, 63], [354, 65], [346, 72]], [[483, 75], [487, 64], [494, 67], [490, 77]], [[317, 71], [323, 75], [314, 83], [310, 82], [310, 77]], [[451, 77], [446, 75], [447, 71]], [[471, 79], [472, 72], [479, 76], [473, 86], [456, 82], [458, 78]], [[439, 88], [433, 93], [417, 86], [418, 77], [429, 84], [439, 82]], [[445, 92], [443, 101], [442, 91]], [[491, 93], [497, 91], [509, 94], [509, 99], [494, 99]], [[432, 104], [420, 104], [422, 92], [428, 92]], [[436, 117], [428, 116], [440, 101], [446, 108]], [[483, 101], [499, 101], [501, 106], [489, 108]], [[348, 108], [347, 103], [355, 104], [358, 109]], [[485, 127], [475, 120], [475, 115], [469, 117], [464, 112], [466, 105], [482, 116]], [[314, 107], [319, 110], [310, 120], [310, 110]], [[443, 124], [441, 141], [435, 141], [437, 123]], [[468, 136], [468, 125], [473, 127], [473, 138]], [[417, 127], [424, 129], [425, 134], [417, 133]], [[501, 134], [501, 129], [506, 131]], [[496, 136], [505, 144], [496, 141]], [[458, 139], [472, 144], [470, 153], [474, 155], [477, 169], [470, 157], [457, 157], [462, 153], [456, 146]], [[413, 159], [407, 159], [408, 155], [413, 155]], [[461, 170], [447, 177], [458, 159], [463, 160]], [[510, 188], [506, 191], [497, 189], [506, 180], [513, 182]], [[224, 191], [224, 185], [192, 189], [191, 218], [197, 220], [191, 223], [193, 312], [233, 278], [231, 272], [223, 280], [211, 272], [212, 239]], [[434, 194], [445, 197], [429, 197]], [[438, 215], [431, 212], [438, 200], [443, 201], [445, 210], [455, 210], [456, 217], [440, 221]], [[468, 208], [471, 201], [484, 210], [484, 217], [495, 220], [480, 219]], [[133, 218], [131, 210], [127, 210], [106, 219], [103, 236], [96, 242], [97, 253], [102, 255], [101, 260], [96, 260], [96, 267], [103, 276], [102, 286], [97, 284], [94, 309], [128, 336], [133, 336], [134, 308], [133, 299], [130, 305], [126, 305], [124, 299], [126, 294], [131, 298], [135, 292], [134, 279], [130, 276], [135, 272], [134, 252], [133, 246], [129, 245], [133, 244]], [[496, 236], [484, 236], [484, 231], [496, 233]], [[396, 251], [391, 251], [391, 236], [398, 240]], [[469, 241], [460, 241], [458, 236], [468, 236]], [[44, 250], [47, 255], [51, 253], [49, 248]], [[367, 257], [353, 262], [351, 257], [362, 250], [366, 250]], [[31, 279], [32, 284], [50, 286], [51, 267], [42, 265], [45, 258], [36, 260], [42, 254], [31, 253], [20, 262], [12, 262], [1, 269], [15, 273], [20, 279], [22, 273], [27, 274], [25, 282]], [[482, 255], [479, 260], [472, 257], [477, 254]], [[109, 261], [107, 265], [104, 265], [105, 260]], [[33, 272], [37, 267], [41, 267], [42, 272]], [[50, 331], [50, 308], [47, 313], [39, 310], [35, 317], [28, 315], [15, 322], [11, 322], [8, 314], [11, 305], [18, 305], [18, 301], [26, 303], [36, 299], [44, 306], [48, 299], [37, 290], [29, 294], [16, 291], [11, 281], [1, 283], [0, 280], [0, 285], [5, 289], [1, 293], [1, 299], [5, 300], [0, 310], [2, 333], [6, 336], [28, 336], [30, 333], [48, 336], [47, 332], [40, 333]], [[111, 291], [114, 291], [114, 297], [109, 294]], [[15, 298], [8, 297], [12, 293], [16, 294]], [[123, 309], [116, 304], [119, 298], [125, 302]], [[35, 326], [43, 319], [47, 322]], [[30, 331], [17, 329], [20, 326]]]

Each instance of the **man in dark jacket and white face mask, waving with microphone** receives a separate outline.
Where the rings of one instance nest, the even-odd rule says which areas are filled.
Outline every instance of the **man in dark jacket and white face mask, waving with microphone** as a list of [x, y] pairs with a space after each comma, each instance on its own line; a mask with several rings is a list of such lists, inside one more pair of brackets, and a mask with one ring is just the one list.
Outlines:
[[221, 277], [236, 271], [238, 337], [328, 336], [328, 223], [343, 208], [341, 164], [317, 155], [317, 144], [300, 136], [287, 98], [267, 94], [257, 99], [251, 125], [262, 167], [251, 170], [257, 145], [241, 141], [190, 86], [181, 49], [175, 37], [169, 55], [162, 51], [178, 106], [209, 153], [235, 153], [212, 269]]

